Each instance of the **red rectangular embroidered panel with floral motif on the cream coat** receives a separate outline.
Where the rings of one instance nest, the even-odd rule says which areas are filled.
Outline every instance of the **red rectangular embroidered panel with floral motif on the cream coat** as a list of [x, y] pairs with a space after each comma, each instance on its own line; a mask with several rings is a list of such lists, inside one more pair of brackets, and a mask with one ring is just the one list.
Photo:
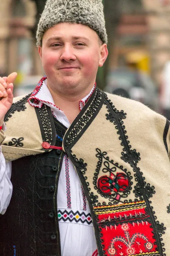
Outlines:
[[160, 256], [144, 201], [94, 210], [105, 255]]

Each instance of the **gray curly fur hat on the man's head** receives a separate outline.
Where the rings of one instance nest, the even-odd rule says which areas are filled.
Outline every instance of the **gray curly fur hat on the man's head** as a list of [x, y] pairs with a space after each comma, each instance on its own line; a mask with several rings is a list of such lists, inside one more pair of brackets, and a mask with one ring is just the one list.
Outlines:
[[89, 26], [108, 43], [102, 0], [47, 0], [37, 28], [37, 46], [42, 45], [45, 31], [61, 22]]

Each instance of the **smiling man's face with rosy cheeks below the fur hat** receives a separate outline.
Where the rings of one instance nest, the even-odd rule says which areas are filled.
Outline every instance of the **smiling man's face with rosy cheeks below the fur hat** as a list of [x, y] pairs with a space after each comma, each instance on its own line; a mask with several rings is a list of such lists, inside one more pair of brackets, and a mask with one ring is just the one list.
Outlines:
[[108, 50], [88, 26], [59, 23], [43, 35], [39, 54], [48, 86], [74, 92], [79, 87], [83, 90], [94, 85]]

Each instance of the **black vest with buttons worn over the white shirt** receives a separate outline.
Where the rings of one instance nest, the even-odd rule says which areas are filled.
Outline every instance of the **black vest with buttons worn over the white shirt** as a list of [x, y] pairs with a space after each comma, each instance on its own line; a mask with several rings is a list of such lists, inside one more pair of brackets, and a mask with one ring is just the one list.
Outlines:
[[[66, 128], [56, 119], [54, 124], [61, 147]], [[0, 215], [0, 256], [61, 256], [57, 187], [63, 156], [53, 149], [12, 162], [13, 195]]]

